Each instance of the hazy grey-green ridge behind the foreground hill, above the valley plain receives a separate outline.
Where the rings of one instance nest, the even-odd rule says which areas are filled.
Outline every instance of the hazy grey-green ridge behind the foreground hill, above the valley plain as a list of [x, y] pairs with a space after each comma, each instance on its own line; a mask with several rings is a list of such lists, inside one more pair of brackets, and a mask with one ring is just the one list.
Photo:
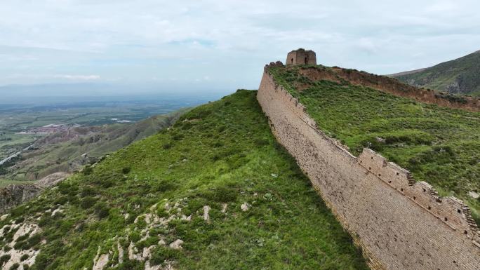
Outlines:
[[39, 180], [52, 173], [73, 172], [105, 154], [171, 126], [184, 112], [152, 116], [132, 124], [85, 126], [48, 135], [37, 141], [34, 149], [23, 152], [15, 166], [8, 163], [0, 167], [0, 178], [8, 183], [6, 180]]

